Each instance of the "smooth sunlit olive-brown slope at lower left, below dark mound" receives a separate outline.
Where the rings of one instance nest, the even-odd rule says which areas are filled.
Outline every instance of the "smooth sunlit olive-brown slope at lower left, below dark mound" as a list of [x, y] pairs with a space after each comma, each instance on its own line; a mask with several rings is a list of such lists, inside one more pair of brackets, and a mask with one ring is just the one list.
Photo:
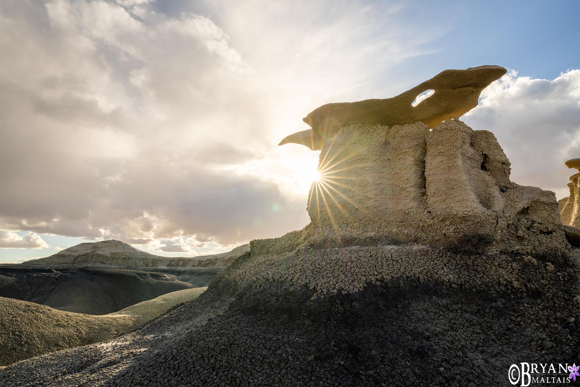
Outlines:
[[70, 313], [0, 297], [0, 366], [39, 354], [102, 342], [130, 331], [206, 288], [184, 289], [104, 316]]

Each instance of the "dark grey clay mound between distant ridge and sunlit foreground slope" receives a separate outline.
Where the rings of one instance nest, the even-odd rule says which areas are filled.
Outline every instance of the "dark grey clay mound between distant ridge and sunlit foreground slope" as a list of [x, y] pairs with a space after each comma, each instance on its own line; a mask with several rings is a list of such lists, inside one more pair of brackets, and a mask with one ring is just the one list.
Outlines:
[[5, 266], [0, 271], [0, 296], [85, 314], [112, 313], [193, 287], [175, 275], [139, 270]]

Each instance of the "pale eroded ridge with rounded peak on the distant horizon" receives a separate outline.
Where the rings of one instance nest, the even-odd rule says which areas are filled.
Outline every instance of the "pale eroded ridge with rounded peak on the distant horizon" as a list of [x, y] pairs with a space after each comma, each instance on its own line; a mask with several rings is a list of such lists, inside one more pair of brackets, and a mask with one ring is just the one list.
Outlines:
[[32, 259], [24, 264], [78, 264], [108, 267], [225, 267], [238, 256], [248, 252], [250, 245], [242, 245], [220, 254], [197, 257], [162, 257], [146, 253], [128, 243], [108, 241], [85, 242], [45, 258]]

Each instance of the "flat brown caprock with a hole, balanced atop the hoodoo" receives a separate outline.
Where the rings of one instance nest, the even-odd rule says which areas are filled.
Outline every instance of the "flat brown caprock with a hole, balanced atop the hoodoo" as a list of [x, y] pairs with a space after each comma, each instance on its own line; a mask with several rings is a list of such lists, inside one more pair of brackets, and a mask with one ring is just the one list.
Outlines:
[[[327, 103], [302, 119], [311, 129], [291, 134], [278, 145], [293, 142], [306, 145], [312, 150], [320, 150], [325, 139], [351, 124], [393, 126], [421, 121], [433, 128], [444, 120], [459, 117], [476, 107], [481, 91], [506, 71], [501, 66], [444, 70], [393, 98]], [[429, 89], [434, 90], [429, 98], [416, 106], [411, 105], [419, 94]]]

